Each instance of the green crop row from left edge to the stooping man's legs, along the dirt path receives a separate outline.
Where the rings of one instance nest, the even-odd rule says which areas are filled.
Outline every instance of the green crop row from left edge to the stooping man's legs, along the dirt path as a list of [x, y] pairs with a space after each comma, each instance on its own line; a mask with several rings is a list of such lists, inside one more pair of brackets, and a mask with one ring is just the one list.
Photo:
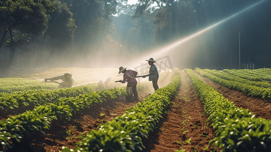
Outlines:
[[11, 147], [9, 141], [20, 139], [34, 130], [49, 129], [52, 120], [63, 118], [69, 120], [76, 111], [95, 106], [107, 99], [120, 98], [126, 95], [126, 88], [107, 89], [69, 98], [60, 98], [54, 103], [36, 106], [18, 116], [12, 116], [0, 122], [0, 149]]

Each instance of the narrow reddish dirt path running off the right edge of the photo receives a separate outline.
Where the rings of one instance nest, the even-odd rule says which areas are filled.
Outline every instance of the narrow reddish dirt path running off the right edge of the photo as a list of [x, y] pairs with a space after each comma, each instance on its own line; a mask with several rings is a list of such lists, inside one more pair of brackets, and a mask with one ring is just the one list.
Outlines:
[[253, 96], [247, 96], [245, 93], [238, 90], [230, 90], [226, 87], [222, 87], [217, 83], [212, 82], [209, 78], [202, 77], [200, 74], [195, 74], [207, 85], [216, 89], [225, 98], [233, 101], [234, 104], [243, 109], [249, 109], [257, 118], [264, 118], [271, 120], [271, 103], [266, 99], [261, 99]]

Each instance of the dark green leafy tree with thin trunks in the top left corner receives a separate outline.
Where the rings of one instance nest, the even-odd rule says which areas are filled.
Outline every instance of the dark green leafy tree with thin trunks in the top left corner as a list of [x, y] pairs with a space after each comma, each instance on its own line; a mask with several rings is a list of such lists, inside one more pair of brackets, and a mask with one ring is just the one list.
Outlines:
[[5, 31], [0, 43], [0, 49], [5, 41], [6, 34], [10, 35], [10, 59], [6, 67], [12, 64], [15, 54], [13, 30], [19, 30], [33, 36], [40, 35], [47, 29], [47, 11], [54, 11], [54, 4], [49, 0], [4, 0], [0, 3], [0, 24]]

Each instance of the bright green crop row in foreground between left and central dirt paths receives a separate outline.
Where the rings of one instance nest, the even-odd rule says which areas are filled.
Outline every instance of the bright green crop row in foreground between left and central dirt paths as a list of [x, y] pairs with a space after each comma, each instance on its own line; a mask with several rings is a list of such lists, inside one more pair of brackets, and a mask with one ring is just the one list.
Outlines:
[[169, 107], [171, 98], [180, 86], [179, 69], [174, 69], [172, 82], [156, 90], [136, 106], [126, 109], [124, 115], [116, 117], [98, 130], [92, 130], [74, 149], [63, 147], [63, 151], [134, 151], [144, 148], [142, 138], [159, 122]]

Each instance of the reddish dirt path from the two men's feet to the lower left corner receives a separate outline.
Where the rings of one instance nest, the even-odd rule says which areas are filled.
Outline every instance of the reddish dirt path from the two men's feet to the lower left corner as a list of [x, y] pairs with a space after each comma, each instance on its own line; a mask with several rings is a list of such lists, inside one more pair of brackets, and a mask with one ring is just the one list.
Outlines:
[[[125, 99], [106, 101], [106, 103], [102, 103], [100, 106], [81, 111], [81, 113], [72, 117], [70, 121], [54, 121], [50, 130], [44, 130], [46, 135], [41, 132], [33, 132], [7, 151], [51, 152], [61, 150], [62, 146], [75, 148], [75, 143], [82, 141], [80, 136], [83, 137], [92, 129], [96, 130], [100, 124], [123, 115], [126, 108], [131, 108], [138, 102], [142, 102], [148, 95], [147, 92], [139, 93], [138, 101], [127, 102]], [[67, 132], [70, 133], [69, 136]]]

